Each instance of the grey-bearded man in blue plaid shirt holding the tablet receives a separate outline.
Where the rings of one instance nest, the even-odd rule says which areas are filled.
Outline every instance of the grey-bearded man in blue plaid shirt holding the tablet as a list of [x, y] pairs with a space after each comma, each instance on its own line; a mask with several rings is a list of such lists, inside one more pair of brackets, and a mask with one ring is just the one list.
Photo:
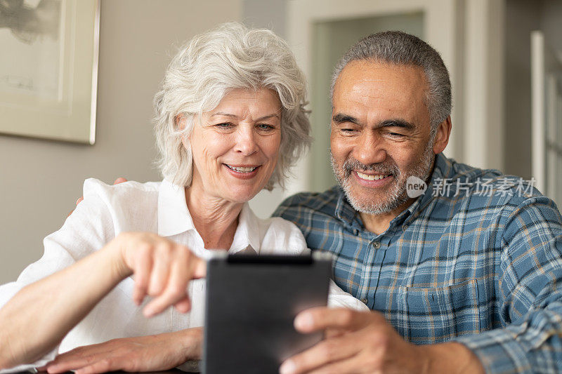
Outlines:
[[275, 215], [333, 253], [336, 283], [374, 312], [299, 314], [297, 329], [326, 339], [282, 374], [562, 370], [561, 215], [528, 182], [443, 156], [450, 91], [438, 53], [412, 35], [373, 34], [341, 58], [339, 186]]

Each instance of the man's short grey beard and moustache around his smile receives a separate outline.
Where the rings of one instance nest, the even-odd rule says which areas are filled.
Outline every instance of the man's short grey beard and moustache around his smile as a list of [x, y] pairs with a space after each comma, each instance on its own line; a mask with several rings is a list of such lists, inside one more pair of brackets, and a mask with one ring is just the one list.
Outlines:
[[[405, 172], [400, 171], [396, 163], [390, 165], [385, 165], [384, 163], [364, 165], [355, 159], [347, 159], [340, 169], [336, 165], [332, 152], [330, 152], [334, 175], [341, 188], [344, 189], [346, 197], [351, 206], [353, 206], [353, 209], [361, 213], [377, 215], [391, 212], [408, 201], [410, 198], [406, 192], [407, 178], [414, 175], [421, 180], [427, 181], [429, 173], [431, 172], [434, 159], [433, 138], [432, 136], [427, 143], [426, 149], [424, 149], [424, 156], [419, 163], [416, 163], [409, 171]], [[354, 178], [353, 175], [351, 175], [353, 170], [374, 171], [384, 175], [393, 175], [394, 182], [393, 185], [391, 185], [391, 189], [388, 191], [386, 199], [372, 201], [370, 196], [353, 196], [353, 182], [351, 180], [351, 178]]]

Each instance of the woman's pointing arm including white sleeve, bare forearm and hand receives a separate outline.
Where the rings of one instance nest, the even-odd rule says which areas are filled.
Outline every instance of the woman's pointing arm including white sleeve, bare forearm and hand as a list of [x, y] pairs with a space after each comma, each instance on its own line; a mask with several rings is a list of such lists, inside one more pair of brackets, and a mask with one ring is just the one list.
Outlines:
[[133, 273], [135, 301], [155, 297], [145, 305], [145, 315], [167, 305], [188, 309], [185, 277], [201, 275], [204, 262], [155, 234], [115, 238], [114, 218], [94, 190], [89, 189], [63, 228], [45, 239], [41, 260], [17, 282], [0, 286], [0, 369], [35, 362], [51, 352], [109, 290]]

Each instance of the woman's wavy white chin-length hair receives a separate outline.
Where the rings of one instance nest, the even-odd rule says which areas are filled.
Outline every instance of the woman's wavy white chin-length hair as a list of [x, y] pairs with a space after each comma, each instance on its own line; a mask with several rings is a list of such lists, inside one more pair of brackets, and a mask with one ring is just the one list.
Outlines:
[[[171, 61], [161, 90], [155, 95], [157, 165], [167, 180], [189, 187], [192, 154], [182, 136], [189, 136], [195, 116], [201, 118], [234, 88], [270, 88], [279, 96], [280, 156], [266, 189], [284, 187], [289, 168], [308, 149], [311, 125], [306, 83], [287, 43], [268, 29], [248, 29], [228, 22], [194, 36]], [[178, 119], [183, 117], [179, 128]]]

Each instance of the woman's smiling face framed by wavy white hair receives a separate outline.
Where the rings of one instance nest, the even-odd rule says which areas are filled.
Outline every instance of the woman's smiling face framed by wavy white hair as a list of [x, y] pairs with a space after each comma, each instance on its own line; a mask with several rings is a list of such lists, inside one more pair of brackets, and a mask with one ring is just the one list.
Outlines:
[[268, 88], [235, 88], [195, 117], [190, 137], [192, 188], [210, 197], [249, 201], [270, 179], [281, 144], [281, 102]]

